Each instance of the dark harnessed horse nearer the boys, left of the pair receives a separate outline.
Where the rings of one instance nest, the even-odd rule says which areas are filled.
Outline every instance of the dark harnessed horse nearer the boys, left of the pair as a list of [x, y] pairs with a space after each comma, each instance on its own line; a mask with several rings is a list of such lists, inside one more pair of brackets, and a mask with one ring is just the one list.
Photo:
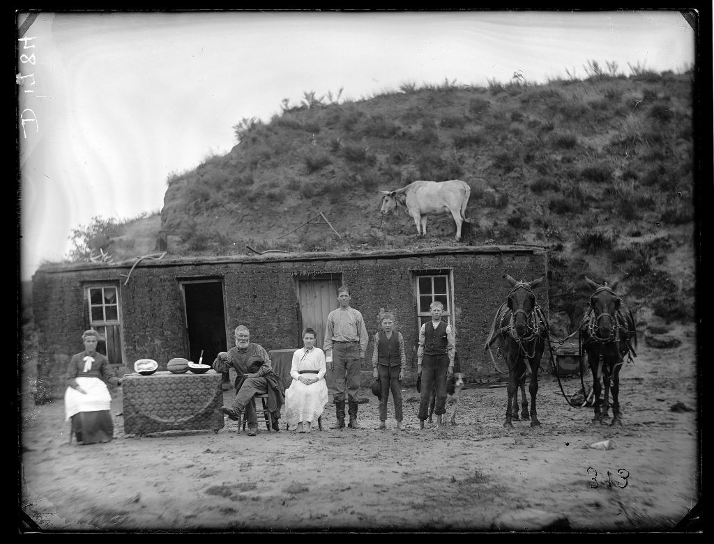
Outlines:
[[[531, 282], [520, 282], [508, 274], [504, 275], [513, 289], [508, 293], [506, 303], [496, 312], [491, 333], [486, 339], [486, 349], [496, 342], [508, 365], [508, 404], [504, 427], [513, 427], [511, 421], [518, 420], [518, 387], [521, 388], [521, 417], [531, 419], [531, 427], [539, 426], [535, 409], [535, 395], [538, 393], [538, 370], [545, 350], [548, 324], [540, 306], [535, 302], [533, 288], [543, 281], [543, 277]], [[528, 392], [531, 394], [531, 411], [526, 400], [526, 374], [531, 374]]]

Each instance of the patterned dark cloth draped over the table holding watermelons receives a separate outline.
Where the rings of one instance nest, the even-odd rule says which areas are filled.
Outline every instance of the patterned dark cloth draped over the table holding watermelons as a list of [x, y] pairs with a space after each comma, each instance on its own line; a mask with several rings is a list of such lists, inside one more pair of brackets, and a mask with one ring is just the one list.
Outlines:
[[[288, 367], [289, 371], [289, 367]], [[155, 372], [121, 379], [124, 432], [193, 431], [223, 428], [221, 374]]]

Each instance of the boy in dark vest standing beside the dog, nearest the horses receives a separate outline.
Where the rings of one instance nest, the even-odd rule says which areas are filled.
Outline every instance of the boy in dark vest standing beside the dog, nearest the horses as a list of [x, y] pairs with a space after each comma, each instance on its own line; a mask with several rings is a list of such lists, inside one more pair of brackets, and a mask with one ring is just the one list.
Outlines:
[[424, 420], [429, 416], [431, 390], [436, 389], [436, 426], [442, 427], [441, 416], [446, 414], [446, 380], [453, 375], [453, 356], [456, 343], [451, 325], [441, 320], [443, 304], [430, 304], [431, 322], [419, 329], [419, 348], [416, 351], [416, 372], [421, 376], [421, 398], [419, 400], [419, 428], [424, 428]]

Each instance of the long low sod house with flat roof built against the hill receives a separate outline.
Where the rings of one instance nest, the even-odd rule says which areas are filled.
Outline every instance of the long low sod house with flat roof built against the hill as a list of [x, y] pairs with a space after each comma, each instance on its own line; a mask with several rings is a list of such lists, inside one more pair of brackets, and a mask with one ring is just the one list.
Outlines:
[[[488, 329], [511, 285], [503, 274], [530, 281], [548, 314], [545, 250], [526, 246], [444, 247], [370, 252], [268, 252], [263, 255], [144, 259], [129, 262], [49, 264], [33, 277], [33, 311], [39, 337], [39, 396], [61, 398], [81, 333], [103, 334], [99, 351], [116, 373], [134, 371], [136, 359], [159, 370], [174, 357], [211, 364], [233, 346], [233, 329], [245, 324], [251, 342], [266, 350], [301, 347], [303, 327], [322, 346], [327, 314], [346, 284], [351, 306], [365, 319], [370, 342], [363, 385], [371, 381], [372, 337], [381, 314], [395, 315], [406, 343], [406, 384], [416, 381], [418, 328], [441, 301], [456, 330], [456, 351], [466, 381], [499, 376], [488, 351]], [[547, 356], [543, 364], [547, 364]], [[328, 384], [331, 372], [328, 371]]]

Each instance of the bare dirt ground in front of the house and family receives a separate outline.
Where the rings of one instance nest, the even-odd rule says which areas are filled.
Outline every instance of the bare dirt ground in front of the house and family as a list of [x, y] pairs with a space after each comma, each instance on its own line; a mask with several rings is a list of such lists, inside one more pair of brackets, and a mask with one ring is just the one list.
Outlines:
[[[695, 334], [679, 336], [683, 344], [670, 349], [640, 338], [638, 358], [620, 373], [622, 428], [590, 424], [592, 409], [568, 406], [548, 374], [540, 428], [503, 428], [506, 389], [471, 386], [458, 426], [442, 429], [418, 430], [418, 394], [405, 389], [406, 430], [396, 431], [390, 399], [388, 429], [377, 431], [378, 401], [363, 390], [358, 430], [250, 437], [226, 419], [218, 433], [131, 438], [119, 392], [116, 439], [78, 446], [68, 443], [61, 401], [35, 406], [24, 395], [19, 530], [523, 531], [538, 525], [501, 516], [545, 513], [578, 532], [685, 530], [702, 461]], [[579, 383], [563, 387], [575, 392]], [[329, 404], [323, 424], [334, 421]], [[606, 439], [615, 447], [588, 447]]]

